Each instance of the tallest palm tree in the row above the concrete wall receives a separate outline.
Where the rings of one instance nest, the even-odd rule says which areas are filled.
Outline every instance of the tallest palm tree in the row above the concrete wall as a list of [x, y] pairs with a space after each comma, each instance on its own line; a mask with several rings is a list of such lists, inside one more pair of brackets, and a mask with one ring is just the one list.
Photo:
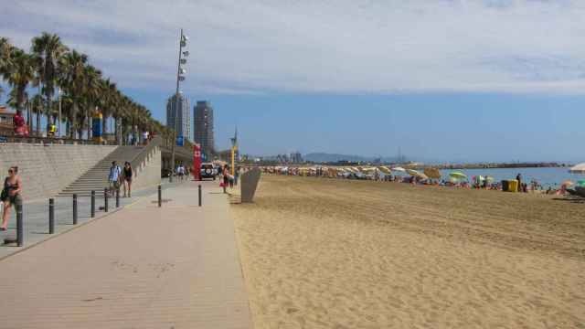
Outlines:
[[48, 109], [52, 107], [53, 95], [55, 94], [58, 65], [68, 48], [61, 43], [60, 37], [47, 32], [43, 32], [40, 37], [34, 37], [32, 44], [32, 52], [37, 59], [37, 74], [43, 86], [41, 92], [47, 101], [45, 112], [49, 121]]

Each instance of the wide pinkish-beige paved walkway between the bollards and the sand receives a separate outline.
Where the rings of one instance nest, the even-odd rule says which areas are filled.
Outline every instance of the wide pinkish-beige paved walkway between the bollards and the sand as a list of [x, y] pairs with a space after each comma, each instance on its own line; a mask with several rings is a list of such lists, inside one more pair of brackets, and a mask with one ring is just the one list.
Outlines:
[[0, 328], [250, 328], [228, 198], [144, 196], [0, 260]]

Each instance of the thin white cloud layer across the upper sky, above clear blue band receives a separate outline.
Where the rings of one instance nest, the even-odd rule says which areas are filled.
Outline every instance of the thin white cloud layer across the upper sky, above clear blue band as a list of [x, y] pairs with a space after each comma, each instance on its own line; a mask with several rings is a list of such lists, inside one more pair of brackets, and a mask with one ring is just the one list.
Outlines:
[[[585, 2], [19, 0], [0, 36], [56, 32], [122, 87], [218, 93], [585, 91]], [[170, 88], [172, 90], [172, 88]]]

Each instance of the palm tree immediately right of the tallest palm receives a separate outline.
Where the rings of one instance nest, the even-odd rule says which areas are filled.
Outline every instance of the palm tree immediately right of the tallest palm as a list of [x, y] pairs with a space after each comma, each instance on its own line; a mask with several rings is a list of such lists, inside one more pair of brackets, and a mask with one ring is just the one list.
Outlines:
[[73, 50], [63, 57], [63, 65], [58, 67], [59, 85], [66, 92], [66, 97], [70, 101], [69, 113], [69, 134], [74, 138], [77, 132], [77, 112], [83, 103], [83, 90], [85, 80], [85, 66], [88, 57], [77, 50]]

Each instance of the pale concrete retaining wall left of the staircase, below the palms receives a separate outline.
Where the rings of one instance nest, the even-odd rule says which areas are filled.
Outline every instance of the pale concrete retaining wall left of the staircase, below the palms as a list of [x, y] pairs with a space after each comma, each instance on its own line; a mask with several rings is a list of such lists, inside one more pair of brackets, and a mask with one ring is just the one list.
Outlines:
[[[23, 181], [25, 202], [56, 195], [116, 146], [0, 143], [0, 177], [8, 168], [18, 166]], [[160, 175], [160, 172], [159, 172]]]

